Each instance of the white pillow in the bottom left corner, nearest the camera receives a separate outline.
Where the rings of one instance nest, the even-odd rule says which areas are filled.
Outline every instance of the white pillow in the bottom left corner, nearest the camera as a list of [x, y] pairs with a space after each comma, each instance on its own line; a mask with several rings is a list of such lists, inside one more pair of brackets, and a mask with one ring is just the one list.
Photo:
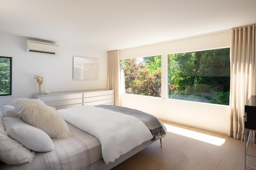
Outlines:
[[0, 160], [8, 165], [16, 165], [31, 162], [35, 156], [35, 151], [27, 149], [8, 136], [0, 119]]

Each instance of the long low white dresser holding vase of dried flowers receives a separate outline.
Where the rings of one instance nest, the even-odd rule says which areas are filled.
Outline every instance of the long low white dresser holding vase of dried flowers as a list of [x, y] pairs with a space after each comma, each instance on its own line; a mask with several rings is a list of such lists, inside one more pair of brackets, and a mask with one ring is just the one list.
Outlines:
[[34, 94], [34, 99], [42, 100], [46, 105], [56, 109], [65, 109], [68, 107], [114, 104], [114, 90], [84, 90], [70, 92], [53, 92], [49, 94]]

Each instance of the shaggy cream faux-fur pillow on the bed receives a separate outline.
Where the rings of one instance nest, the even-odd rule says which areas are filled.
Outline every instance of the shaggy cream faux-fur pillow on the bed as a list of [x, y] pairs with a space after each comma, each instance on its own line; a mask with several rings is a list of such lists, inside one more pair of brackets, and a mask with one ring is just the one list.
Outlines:
[[50, 137], [66, 139], [70, 135], [68, 125], [54, 107], [39, 99], [14, 99], [14, 107], [24, 122], [37, 127]]

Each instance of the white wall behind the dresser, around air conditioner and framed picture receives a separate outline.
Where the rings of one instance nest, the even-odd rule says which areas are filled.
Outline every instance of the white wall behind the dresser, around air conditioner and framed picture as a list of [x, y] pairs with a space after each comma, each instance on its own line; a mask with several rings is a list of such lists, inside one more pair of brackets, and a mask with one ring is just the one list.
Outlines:
[[[106, 88], [107, 52], [59, 44], [58, 55], [26, 52], [26, 38], [0, 33], [0, 56], [12, 57], [12, 96], [0, 96], [0, 105], [14, 98], [32, 98], [38, 93], [34, 74], [44, 76], [42, 91], [50, 92]], [[73, 56], [100, 60], [98, 80], [72, 80]]]

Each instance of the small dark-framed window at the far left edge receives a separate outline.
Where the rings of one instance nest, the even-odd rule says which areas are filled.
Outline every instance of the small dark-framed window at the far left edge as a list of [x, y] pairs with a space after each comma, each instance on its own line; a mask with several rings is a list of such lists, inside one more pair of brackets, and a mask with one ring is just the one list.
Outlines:
[[0, 96], [12, 95], [12, 58], [0, 57]]

